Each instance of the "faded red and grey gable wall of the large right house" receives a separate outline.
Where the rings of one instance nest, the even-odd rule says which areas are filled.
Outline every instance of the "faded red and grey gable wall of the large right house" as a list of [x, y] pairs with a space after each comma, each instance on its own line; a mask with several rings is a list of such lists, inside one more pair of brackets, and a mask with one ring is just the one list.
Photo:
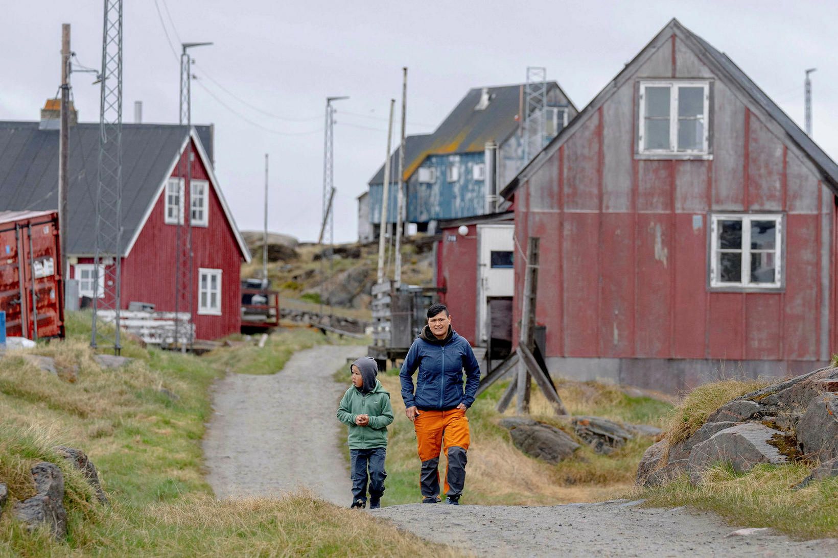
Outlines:
[[[711, 77], [672, 45], [665, 75], [638, 77], [695, 77], [676, 75], [682, 63]], [[835, 301], [838, 278], [821, 292], [815, 173], [718, 78], [716, 112], [729, 114], [716, 114], [712, 160], [636, 158], [633, 85], [582, 122], [515, 192], [518, 245], [541, 237], [536, 320], [547, 326], [547, 356], [819, 360], [820, 301]], [[729, 122], [730, 114], [739, 120]], [[783, 292], [707, 287], [710, 214], [743, 210], [785, 216]], [[838, 233], [833, 238], [835, 246]], [[838, 246], [832, 254], [835, 277]], [[516, 256], [515, 324], [524, 264]], [[833, 351], [836, 312], [833, 302]]]

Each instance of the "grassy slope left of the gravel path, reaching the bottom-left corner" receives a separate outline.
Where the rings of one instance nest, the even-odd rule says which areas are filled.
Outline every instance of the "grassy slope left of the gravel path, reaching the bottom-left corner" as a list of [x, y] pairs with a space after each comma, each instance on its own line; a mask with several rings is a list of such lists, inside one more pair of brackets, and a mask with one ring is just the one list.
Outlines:
[[[200, 440], [210, 412], [209, 385], [222, 369], [206, 359], [129, 343], [123, 353], [137, 360], [103, 370], [87, 348], [86, 319], [72, 316], [70, 339], [36, 351], [53, 356], [65, 378], [78, 366], [73, 383], [22, 358], [0, 360], [0, 481], [11, 499], [25, 499], [34, 493], [28, 468], [41, 460], [58, 463], [70, 518], [66, 542], [55, 542], [44, 532], [28, 534], [3, 513], [0, 555], [438, 554], [389, 524], [306, 493], [278, 500], [212, 498]], [[111, 506], [94, 503], [80, 474], [50, 449], [59, 444], [90, 455]]]

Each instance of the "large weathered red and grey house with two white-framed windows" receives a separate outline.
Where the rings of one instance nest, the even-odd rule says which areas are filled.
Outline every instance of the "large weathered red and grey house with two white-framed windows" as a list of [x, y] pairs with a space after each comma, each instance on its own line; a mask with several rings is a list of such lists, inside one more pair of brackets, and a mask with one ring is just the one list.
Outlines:
[[[673, 19], [504, 189], [551, 372], [680, 390], [838, 349], [838, 166]], [[525, 257], [515, 254], [515, 318]]]

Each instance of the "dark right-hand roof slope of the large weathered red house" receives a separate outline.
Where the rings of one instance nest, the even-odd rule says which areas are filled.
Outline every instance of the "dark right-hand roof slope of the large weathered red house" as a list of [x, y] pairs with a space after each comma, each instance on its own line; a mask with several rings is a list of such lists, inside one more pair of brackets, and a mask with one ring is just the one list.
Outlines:
[[717, 65], [721, 66], [722, 70], [727, 72], [727, 75], [729, 75], [730, 78], [742, 88], [742, 90], [745, 90], [745, 92], [751, 96], [753, 101], [762, 107], [763, 111], [768, 112], [768, 116], [771, 116], [775, 121], [777, 121], [780, 127], [782, 127], [784, 131], [789, 134], [789, 137], [791, 137], [798, 147], [809, 155], [812, 162], [820, 167], [821, 171], [823, 171], [826, 175], [825, 178], [830, 178], [829, 182], [832, 183], [833, 189], [838, 188], [838, 164], [835, 164], [835, 161], [833, 161], [832, 158], [830, 158], [830, 156], [827, 155], [817, 143], [812, 141], [812, 138], [806, 135], [806, 132], [801, 130], [800, 127], [791, 118], [789, 118], [789, 115], [787, 115], [783, 109], [777, 106], [777, 104], [774, 103], [774, 101], [772, 101], [771, 98], [767, 96], [757, 84], [753, 83], [753, 80], [751, 80], [751, 78], [749, 78], [747, 74], [739, 68], [739, 66], [734, 64], [733, 60], [727, 57], [727, 54], [720, 52], [706, 40], [701, 39], [701, 37], [694, 34], [690, 29], [685, 28], [678, 22], [678, 20], [673, 19], [671, 23], [677, 24], [681, 31], [690, 35], [693, 39], [696, 39], [696, 41], [701, 44], [701, 47], [705, 50], [706, 54], [711, 57]]

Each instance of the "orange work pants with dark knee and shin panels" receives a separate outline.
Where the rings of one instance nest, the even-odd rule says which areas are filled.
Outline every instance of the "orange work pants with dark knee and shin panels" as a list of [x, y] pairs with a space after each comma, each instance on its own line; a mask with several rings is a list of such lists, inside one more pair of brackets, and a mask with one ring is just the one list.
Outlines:
[[459, 496], [465, 484], [466, 452], [470, 441], [466, 411], [419, 411], [413, 426], [416, 428], [419, 459], [422, 460], [422, 497], [430, 499], [439, 495], [438, 466], [441, 449], [446, 457], [445, 493], [448, 496]]

